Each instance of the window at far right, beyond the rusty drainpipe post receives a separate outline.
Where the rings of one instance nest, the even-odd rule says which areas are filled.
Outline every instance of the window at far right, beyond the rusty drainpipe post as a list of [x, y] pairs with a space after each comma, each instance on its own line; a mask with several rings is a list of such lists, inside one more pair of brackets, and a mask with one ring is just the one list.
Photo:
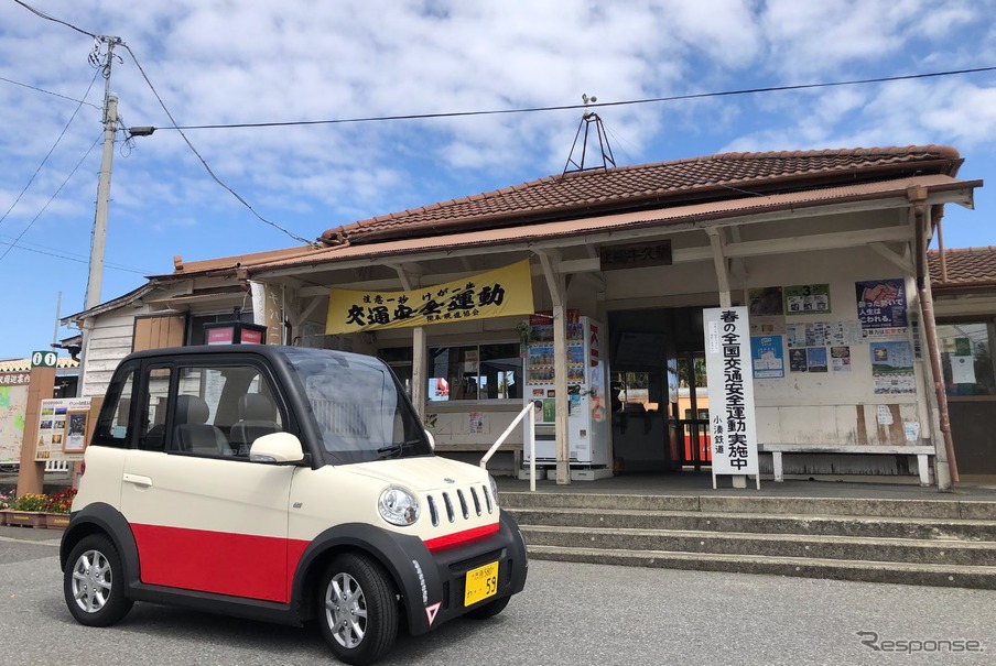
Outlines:
[[986, 323], [938, 326], [948, 395], [996, 395], [989, 328]]

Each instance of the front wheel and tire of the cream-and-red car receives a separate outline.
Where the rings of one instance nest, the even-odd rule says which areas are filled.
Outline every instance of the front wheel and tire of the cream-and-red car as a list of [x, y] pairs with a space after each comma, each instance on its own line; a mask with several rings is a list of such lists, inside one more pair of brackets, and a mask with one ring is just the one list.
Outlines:
[[337, 555], [320, 586], [322, 635], [340, 662], [362, 666], [391, 648], [399, 613], [393, 581], [383, 567], [362, 555]]

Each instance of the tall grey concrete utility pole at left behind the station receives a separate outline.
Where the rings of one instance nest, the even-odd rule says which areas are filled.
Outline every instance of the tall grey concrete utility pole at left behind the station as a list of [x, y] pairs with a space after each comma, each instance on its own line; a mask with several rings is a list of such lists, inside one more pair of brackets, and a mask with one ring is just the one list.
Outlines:
[[[100, 44], [107, 44], [107, 54], [100, 63]], [[104, 249], [107, 241], [107, 212], [110, 206], [110, 170], [115, 159], [115, 131], [118, 127], [118, 98], [110, 91], [110, 70], [115, 62], [115, 46], [121, 44], [121, 37], [100, 36], [94, 44], [90, 62], [104, 69], [104, 155], [100, 160], [100, 176], [97, 181], [97, 212], [94, 216], [94, 241], [90, 248], [90, 270], [87, 276], [86, 301], [84, 310], [100, 304], [100, 288], [104, 286]], [[76, 395], [84, 394], [86, 376], [86, 357], [89, 343], [90, 327], [86, 319], [80, 328], [79, 345], [79, 382]]]

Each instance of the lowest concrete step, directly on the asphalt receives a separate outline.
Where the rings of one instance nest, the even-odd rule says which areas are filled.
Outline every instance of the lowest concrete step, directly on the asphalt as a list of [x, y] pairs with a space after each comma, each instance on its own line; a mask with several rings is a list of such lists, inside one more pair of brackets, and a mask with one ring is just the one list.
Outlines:
[[632, 567], [661, 567], [695, 571], [729, 571], [867, 582], [996, 589], [996, 568], [994, 567], [671, 553], [665, 550], [625, 550], [618, 548], [567, 548], [540, 545], [529, 545], [529, 555], [533, 559]]

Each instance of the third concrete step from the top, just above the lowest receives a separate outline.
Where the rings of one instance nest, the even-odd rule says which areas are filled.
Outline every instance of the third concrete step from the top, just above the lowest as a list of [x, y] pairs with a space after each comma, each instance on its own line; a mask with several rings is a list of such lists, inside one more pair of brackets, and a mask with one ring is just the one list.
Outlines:
[[992, 542], [675, 529], [580, 531], [576, 527], [523, 524], [520, 528], [530, 546], [996, 567], [996, 543]]

